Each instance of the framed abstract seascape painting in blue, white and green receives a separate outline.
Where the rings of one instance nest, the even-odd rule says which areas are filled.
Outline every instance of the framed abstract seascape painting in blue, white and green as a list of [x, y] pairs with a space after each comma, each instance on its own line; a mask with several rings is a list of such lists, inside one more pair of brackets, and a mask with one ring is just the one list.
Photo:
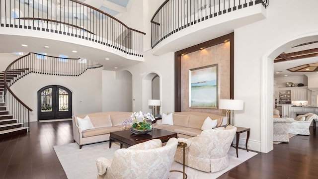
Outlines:
[[189, 107], [218, 108], [218, 64], [189, 70]]

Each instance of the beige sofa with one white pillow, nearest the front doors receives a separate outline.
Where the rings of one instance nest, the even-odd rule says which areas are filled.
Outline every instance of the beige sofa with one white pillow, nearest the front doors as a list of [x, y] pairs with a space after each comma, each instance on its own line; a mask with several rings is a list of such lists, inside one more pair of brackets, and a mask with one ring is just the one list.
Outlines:
[[[122, 122], [129, 118], [131, 113], [113, 111], [72, 116], [74, 142], [77, 142], [79, 149], [81, 149], [85, 144], [108, 141], [110, 132], [124, 130]], [[79, 127], [77, 117], [84, 118], [86, 115], [90, 118], [94, 129], [82, 131]]]

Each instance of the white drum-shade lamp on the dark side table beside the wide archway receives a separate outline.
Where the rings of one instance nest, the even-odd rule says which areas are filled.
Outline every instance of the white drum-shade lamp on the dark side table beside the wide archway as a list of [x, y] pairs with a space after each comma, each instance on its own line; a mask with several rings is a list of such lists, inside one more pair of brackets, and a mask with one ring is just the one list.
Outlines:
[[234, 125], [234, 110], [243, 110], [244, 101], [237, 99], [220, 99], [219, 109], [227, 110], [227, 125]]

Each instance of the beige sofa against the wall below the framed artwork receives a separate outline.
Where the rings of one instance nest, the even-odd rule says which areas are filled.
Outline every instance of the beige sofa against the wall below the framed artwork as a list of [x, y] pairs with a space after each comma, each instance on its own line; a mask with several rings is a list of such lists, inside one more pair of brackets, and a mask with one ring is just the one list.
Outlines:
[[154, 128], [176, 132], [178, 138], [190, 138], [200, 135], [204, 120], [209, 116], [212, 120], [218, 120], [217, 127], [221, 126], [225, 116], [203, 112], [174, 112], [173, 125], [162, 124], [162, 119], [157, 120]]

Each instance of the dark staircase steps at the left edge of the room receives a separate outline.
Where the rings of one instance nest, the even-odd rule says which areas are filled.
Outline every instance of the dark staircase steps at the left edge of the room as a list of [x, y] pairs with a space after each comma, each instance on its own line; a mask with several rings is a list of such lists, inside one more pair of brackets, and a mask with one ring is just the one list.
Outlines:
[[[7, 76], [7, 82], [13, 80], [14, 76], [16, 76], [14, 73]], [[3, 72], [0, 73], [0, 139], [13, 135], [19, 135], [28, 131], [27, 127], [22, 127], [23, 123], [19, 123], [18, 119], [13, 118], [13, 115], [10, 114], [10, 111], [7, 110], [7, 106], [5, 106], [3, 74]]]

